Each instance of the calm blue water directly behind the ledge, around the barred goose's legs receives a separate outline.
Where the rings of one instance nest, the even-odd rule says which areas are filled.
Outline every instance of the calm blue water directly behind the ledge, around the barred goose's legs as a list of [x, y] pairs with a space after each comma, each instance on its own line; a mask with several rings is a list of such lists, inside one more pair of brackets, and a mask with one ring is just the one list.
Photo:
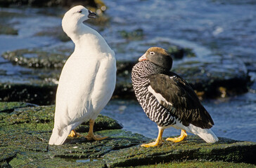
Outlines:
[[[215, 125], [212, 131], [217, 137], [226, 137], [242, 141], [256, 141], [256, 96], [246, 93], [237, 97], [203, 101]], [[106, 116], [118, 120], [125, 130], [130, 130], [146, 137], [156, 138], [158, 127], [153, 123], [136, 101], [113, 100], [102, 111]], [[169, 127], [163, 136], [179, 135], [180, 130]]]

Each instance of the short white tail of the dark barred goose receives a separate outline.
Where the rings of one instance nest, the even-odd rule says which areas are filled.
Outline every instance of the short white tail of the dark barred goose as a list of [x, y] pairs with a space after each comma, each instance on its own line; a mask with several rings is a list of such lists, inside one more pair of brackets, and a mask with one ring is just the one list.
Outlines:
[[216, 137], [215, 133], [210, 129], [203, 129], [200, 127], [196, 127], [195, 125], [189, 125], [188, 129], [191, 133], [198, 135], [201, 139], [205, 140], [207, 143], [215, 143], [219, 141]]

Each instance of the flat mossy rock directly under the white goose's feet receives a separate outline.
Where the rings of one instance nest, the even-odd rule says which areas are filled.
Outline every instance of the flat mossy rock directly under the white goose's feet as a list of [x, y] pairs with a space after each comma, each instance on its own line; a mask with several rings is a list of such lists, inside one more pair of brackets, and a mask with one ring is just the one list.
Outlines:
[[[105, 153], [136, 146], [148, 140], [139, 134], [132, 134], [132, 132], [124, 130], [104, 130], [96, 132], [96, 134], [109, 137], [103, 141], [88, 141], [84, 137], [68, 137], [65, 144], [61, 146], [48, 146], [46, 140], [51, 136], [50, 133], [24, 134], [24, 132], [20, 132], [16, 136], [10, 134], [8, 141], [11, 142], [0, 147], [0, 162], [1, 164], [7, 162], [11, 167], [32, 165], [43, 167], [105, 167], [105, 160], [102, 159]], [[25, 145], [18, 147], [23, 143]], [[94, 162], [89, 162], [89, 160], [94, 160]]]

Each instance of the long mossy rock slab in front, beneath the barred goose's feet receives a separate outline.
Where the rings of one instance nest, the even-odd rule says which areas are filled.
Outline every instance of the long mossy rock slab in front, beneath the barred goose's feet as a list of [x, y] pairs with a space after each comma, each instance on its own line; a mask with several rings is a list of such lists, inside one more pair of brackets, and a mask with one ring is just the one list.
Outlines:
[[174, 144], [166, 142], [155, 148], [134, 146], [104, 155], [108, 167], [154, 165], [161, 162], [208, 160], [223, 162], [247, 162], [256, 164], [256, 143], [219, 138], [216, 144], [206, 144], [196, 136]]

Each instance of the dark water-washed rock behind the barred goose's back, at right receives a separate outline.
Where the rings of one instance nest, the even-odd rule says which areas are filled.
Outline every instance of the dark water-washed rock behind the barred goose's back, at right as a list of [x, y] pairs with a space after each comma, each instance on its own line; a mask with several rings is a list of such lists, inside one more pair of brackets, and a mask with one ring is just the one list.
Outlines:
[[248, 91], [250, 82], [243, 62], [217, 55], [174, 62], [172, 71], [191, 84], [202, 97], [229, 97]]

